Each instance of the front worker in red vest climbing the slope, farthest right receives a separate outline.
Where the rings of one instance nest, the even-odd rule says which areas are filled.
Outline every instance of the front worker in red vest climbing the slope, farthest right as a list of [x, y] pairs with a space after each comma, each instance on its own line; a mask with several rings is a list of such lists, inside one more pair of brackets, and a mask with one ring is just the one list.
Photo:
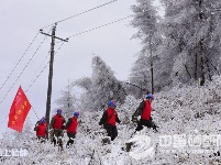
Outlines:
[[141, 116], [141, 119], [135, 129], [136, 131], [143, 130], [143, 125], [147, 128], [153, 128], [155, 131], [157, 131], [156, 130], [157, 127], [154, 124], [151, 117], [151, 113], [152, 113], [151, 103], [153, 100], [154, 100], [154, 96], [152, 94], [148, 94], [146, 96], [146, 99], [140, 103], [137, 111], [139, 111], [139, 114]]

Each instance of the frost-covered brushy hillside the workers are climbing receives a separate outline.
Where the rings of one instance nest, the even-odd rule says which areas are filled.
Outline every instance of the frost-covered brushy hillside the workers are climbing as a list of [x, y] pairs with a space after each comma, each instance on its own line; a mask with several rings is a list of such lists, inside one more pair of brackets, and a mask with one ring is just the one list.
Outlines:
[[[81, 113], [75, 144], [64, 153], [49, 142], [38, 143], [34, 131], [14, 140], [8, 133], [0, 143], [0, 164], [221, 164], [220, 91], [221, 78], [214, 77], [203, 87], [183, 86], [155, 94], [153, 119], [159, 132], [144, 129], [132, 141], [129, 140], [136, 125], [131, 116], [141, 100], [131, 96], [117, 107], [122, 122], [118, 125], [119, 136], [111, 144], [101, 143], [106, 135], [98, 125], [102, 112]], [[133, 142], [130, 152], [125, 152], [126, 142]]]

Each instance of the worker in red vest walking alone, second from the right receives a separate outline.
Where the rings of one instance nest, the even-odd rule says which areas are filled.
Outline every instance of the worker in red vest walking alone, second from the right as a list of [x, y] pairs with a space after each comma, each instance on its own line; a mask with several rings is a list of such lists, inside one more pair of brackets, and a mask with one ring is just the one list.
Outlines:
[[103, 124], [103, 128], [108, 132], [108, 136], [110, 136], [111, 141], [113, 141], [118, 136], [115, 123], [120, 123], [121, 121], [119, 120], [115, 111], [115, 102], [111, 100], [108, 106], [108, 109], [103, 112], [102, 118], [100, 119], [99, 125]]

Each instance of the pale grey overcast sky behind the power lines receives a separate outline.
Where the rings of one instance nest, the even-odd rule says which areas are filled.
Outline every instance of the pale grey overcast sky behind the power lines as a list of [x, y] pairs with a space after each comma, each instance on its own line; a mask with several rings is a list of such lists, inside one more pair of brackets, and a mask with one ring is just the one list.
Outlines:
[[[44, 28], [44, 32], [47, 33], [52, 28], [47, 25], [110, 1], [1, 0], [0, 54], [3, 63], [0, 65], [0, 123], [4, 122], [0, 124], [0, 132], [9, 130], [7, 129], [7, 116], [20, 85], [38, 118], [45, 114], [51, 37], [45, 38], [45, 35], [40, 34], [38, 30]], [[130, 9], [132, 4], [135, 4], [135, 0], [118, 0], [63, 21], [57, 24], [56, 36], [66, 38], [129, 16], [132, 14]], [[132, 64], [136, 59], [135, 54], [141, 50], [140, 41], [131, 40], [136, 30], [129, 25], [130, 21], [131, 18], [70, 37], [69, 42], [65, 43], [58, 52], [57, 48], [62, 43], [56, 40], [55, 52], [57, 54], [54, 58], [52, 109], [56, 108], [55, 100], [60, 97], [60, 91], [68, 85], [68, 80], [73, 81], [85, 76], [90, 77], [91, 58], [95, 55], [99, 55], [112, 68], [118, 79], [128, 79]], [[35, 36], [35, 41], [25, 53]], [[40, 45], [42, 46], [36, 52]], [[22, 56], [21, 63], [3, 85]], [[47, 67], [43, 69], [45, 66]], [[40, 77], [36, 79], [37, 75]], [[35, 80], [34, 84], [33, 80]], [[33, 110], [30, 111], [29, 118], [33, 123], [37, 120]]]

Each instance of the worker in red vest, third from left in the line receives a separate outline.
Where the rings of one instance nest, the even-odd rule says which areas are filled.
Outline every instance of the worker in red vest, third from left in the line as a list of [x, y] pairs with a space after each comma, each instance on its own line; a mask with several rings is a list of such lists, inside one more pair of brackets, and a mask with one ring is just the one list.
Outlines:
[[79, 112], [75, 111], [73, 114], [73, 118], [69, 118], [67, 123], [66, 123], [66, 130], [67, 130], [67, 136], [69, 138], [69, 141], [67, 142], [66, 147], [69, 147], [74, 143], [74, 139], [77, 133], [77, 119], [79, 117]]

